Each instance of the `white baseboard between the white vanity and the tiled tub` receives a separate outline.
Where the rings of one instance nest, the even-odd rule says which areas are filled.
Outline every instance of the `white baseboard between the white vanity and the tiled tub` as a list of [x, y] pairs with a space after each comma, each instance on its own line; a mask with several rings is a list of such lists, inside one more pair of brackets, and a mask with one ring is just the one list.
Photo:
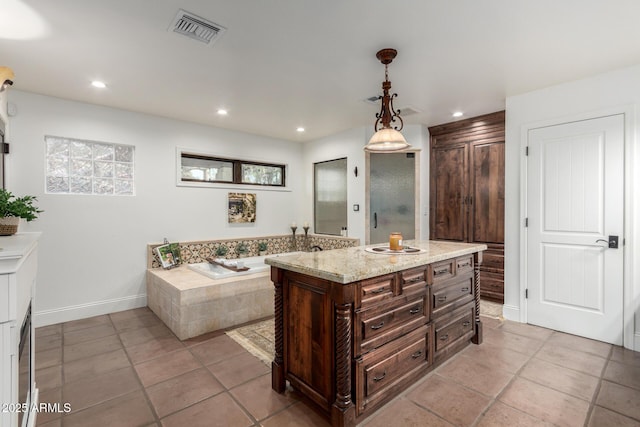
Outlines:
[[56, 323], [69, 322], [71, 320], [86, 319], [87, 317], [100, 316], [102, 314], [115, 313], [132, 308], [145, 307], [147, 295], [132, 295], [123, 298], [115, 298], [105, 301], [91, 302], [87, 304], [71, 305], [53, 310], [36, 311], [33, 314], [33, 324], [40, 326], [55, 325]]

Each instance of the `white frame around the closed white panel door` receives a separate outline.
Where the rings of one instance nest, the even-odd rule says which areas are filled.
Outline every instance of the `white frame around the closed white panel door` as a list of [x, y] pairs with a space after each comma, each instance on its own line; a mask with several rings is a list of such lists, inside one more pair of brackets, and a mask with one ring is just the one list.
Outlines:
[[[597, 111], [591, 111], [586, 113], [573, 114], [568, 116], [562, 116], [557, 118], [551, 118], [536, 122], [527, 123], [522, 126], [520, 130], [520, 286], [519, 286], [519, 318], [523, 323], [528, 321], [527, 313], [527, 299], [525, 298], [525, 291], [528, 288], [528, 229], [525, 226], [525, 220], [528, 216], [527, 196], [528, 196], [528, 183], [527, 183], [527, 156], [526, 147], [528, 145], [529, 131], [541, 128], [556, 126], [570, 122], [584, 121], [590, 119], [596, 119], [599, 117], [612, 116], [622, 114], [624, 117], [624, 234], [622, 236], [622, 242], [625, 242], [624, 246], [624, 258], [623, 258], [623, 346], [632, 350], [640, 351], [640, 331], [635, 332], [634, 325], [634, 289], [633, 284], [637, 282], [638, 272], [634, 276], [633, 271], [633, 254], [640, 253], [640, 239], [635, 239], [635, 235], [638, 230], [634, 229], [634, 201], [633, 201], [633, 159], [637, 156], [636, 151], [633, 149], [634, 145], [634, 129], [635, 129], [635, 106], [624, 105], [620, 107], [613, 107], [607, 109], [601, 109]], [[638, 163], [640, 165], [640, 163]], [[640, 224], [638, 224], [640, 226]], [[505, 309], [518, 309], [517, 307], [507, 307]]]

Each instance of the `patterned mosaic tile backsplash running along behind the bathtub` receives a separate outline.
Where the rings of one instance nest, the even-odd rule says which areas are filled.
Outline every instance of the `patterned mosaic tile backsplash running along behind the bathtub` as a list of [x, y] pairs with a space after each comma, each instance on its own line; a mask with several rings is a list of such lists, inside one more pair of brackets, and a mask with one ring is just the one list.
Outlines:
[[[291, 234], [288, 234], [279, 236], [250, 237], [244, 239], [202, 240], [197, 242], [178, 243], [180, 244], [181, 264], [195, 264], [205, 262], [208, 257], [215, 257], [216, 250], [222, 245], [225, 245], [228, 249], [225, 258], [232, 259], [239, 257], [236, 252], [236, 248], [242, 243], [244, 243], [249, 250], [246, 256], [257, 256], [260, 255], [258, 243], [266, 243], [266, 255], [272, 255], [292, 251], [309, 251], [314, 246], [319, 246], [323, 250], [349, 248], [360, 245], [360, 239], [322, 234], [309, 234], [306, 238], [304, 235], [296, 235], [294, 242]], [[160, 267], [158, 256], [153, 252], [153, 248], [160, 245], [162, 245], [162, 243], [147, 245], [147, 268]]]

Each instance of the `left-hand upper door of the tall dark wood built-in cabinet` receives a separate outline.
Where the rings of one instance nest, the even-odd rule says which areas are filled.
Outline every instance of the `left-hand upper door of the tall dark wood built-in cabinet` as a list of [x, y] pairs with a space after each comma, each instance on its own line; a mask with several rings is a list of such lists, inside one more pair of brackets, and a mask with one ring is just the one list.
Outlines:
[[431, 239], [466, 241], [468, 146], [431, 151]]

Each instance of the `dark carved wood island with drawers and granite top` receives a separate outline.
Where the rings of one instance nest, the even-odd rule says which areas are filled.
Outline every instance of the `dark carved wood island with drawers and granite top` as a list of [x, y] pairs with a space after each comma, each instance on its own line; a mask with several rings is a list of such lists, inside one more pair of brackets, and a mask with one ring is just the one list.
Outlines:
[[265, 260], [275, 286], [274, 390], [289, 381], [333, 426], [352, 426], [481, 343], [486, 245], [404, 244], [413, 252], [371, 245]]

